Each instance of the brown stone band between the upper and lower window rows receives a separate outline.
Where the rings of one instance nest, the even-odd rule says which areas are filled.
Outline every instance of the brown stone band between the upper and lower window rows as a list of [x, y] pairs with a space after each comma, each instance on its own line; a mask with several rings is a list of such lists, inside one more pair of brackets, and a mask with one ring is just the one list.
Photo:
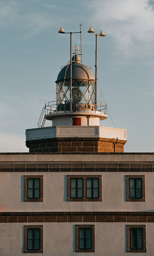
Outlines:
[[1, 212], [0, 223], [12, 222], [154, 222], [154, 212]]

